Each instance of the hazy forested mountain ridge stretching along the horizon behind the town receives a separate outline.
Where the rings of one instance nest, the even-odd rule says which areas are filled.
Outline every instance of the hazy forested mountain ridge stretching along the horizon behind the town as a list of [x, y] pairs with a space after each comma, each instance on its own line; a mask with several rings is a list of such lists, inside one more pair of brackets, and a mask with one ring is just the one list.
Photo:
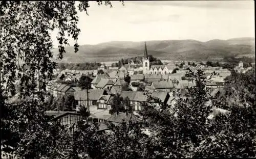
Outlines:
[[[228, 40], [152, 40], [146, 41], [148, 55], [160, 60], [218, 60], [225, 56], [255, 55], [255, 38], [233, 38]], [[53, 49], [54, 56], [58, 49]], [[72, 46], [66, 47], [61, 61], [67, 63], [107, 62], [143, 56], [144, 41], [110, 41], [96, 45], [80, 45], [75, 54]]]

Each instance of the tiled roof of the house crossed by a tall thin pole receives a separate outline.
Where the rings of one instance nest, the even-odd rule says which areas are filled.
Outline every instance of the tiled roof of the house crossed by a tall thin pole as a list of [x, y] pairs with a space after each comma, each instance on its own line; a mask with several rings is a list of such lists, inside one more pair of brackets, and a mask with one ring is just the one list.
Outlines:
[[[88, 90], [89, 100], [98, 100], [99, 97], [103, 94], [104, 90]], [[87, 90], [77, 91], [74, 94], [75, 100], [87, 100]]]

